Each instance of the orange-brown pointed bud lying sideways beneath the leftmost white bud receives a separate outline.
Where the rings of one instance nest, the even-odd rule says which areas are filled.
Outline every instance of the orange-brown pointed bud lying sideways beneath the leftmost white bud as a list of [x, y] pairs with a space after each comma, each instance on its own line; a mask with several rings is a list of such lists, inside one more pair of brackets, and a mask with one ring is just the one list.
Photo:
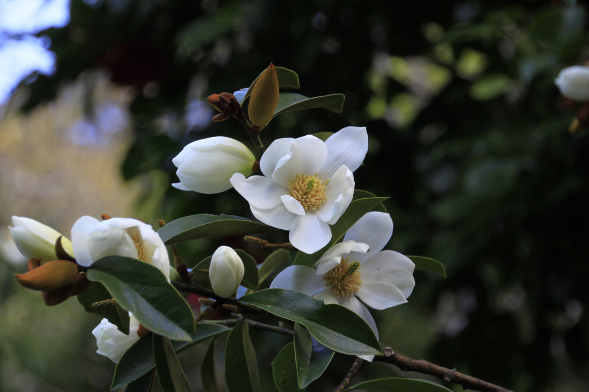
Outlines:
[[54, 291], [74, 282], [78, 276], [78, 266], [67, 260], [54, 260], [42, 264], [25, 274], [14, 277], [24, 287], [33, 290]]

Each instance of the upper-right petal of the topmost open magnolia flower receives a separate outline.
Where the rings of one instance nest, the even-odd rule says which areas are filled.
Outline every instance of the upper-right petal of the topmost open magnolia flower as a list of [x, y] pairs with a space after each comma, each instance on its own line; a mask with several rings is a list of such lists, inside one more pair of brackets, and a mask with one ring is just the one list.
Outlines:
[[326, 177], [341, 165], [346, 165], [352, 172], [364, 161], [368, 152], [368, 133], [366, 127], [346, 127], [335, 132], [325, 141], [327, 159], [320, 172]]

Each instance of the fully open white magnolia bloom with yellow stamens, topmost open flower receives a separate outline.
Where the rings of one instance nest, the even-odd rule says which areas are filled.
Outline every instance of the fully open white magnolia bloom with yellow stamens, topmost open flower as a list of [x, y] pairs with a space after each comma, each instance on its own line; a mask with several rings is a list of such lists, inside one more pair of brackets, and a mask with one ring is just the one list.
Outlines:
[[289, 230], [290, 243], [315, 253], [331, 240], [329, 225], [348, 208], [352, 174], [368, 151], [366, 128], [346, 127], [325, 142], [306, 135], [276, 139], [260, 159], [263, 176], [236, 173], [231, 185], [263, 223]]

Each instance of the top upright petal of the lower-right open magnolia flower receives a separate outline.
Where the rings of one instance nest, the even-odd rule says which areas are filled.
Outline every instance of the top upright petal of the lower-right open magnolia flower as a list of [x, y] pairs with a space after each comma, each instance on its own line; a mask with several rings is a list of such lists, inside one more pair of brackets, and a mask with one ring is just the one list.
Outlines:
[[372, 211], [353, 224], [343, 236], [343, 240], [354, 240], [369, 245], [370, 250], [366, 253], [366, 257], [361, 257], [359, 260], [362, 261], [382, 250], [391, 240], [392, 234], [393, 220], [391, 215], [386, 212]]

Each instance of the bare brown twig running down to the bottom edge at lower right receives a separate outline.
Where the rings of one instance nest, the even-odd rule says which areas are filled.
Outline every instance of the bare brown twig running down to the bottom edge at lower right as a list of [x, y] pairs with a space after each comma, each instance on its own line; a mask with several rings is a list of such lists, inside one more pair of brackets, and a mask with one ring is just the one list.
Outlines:
[[442, 367], [425, 360], [414, 360], [413, 358], [396, 354], [391, 347], [385, 347], [383, 350], [384, 356], [375, 356], [375, 361], [382, 361], [385, 363], [392, 363], [403, 371], [418, 371], [419, 373], [429, 374], [443, 378], [449, 383], [461, 385], [463, 388], [468, 388], [481, 392], [513, 392], [479, 378], [468, 376], [446, 367]]

